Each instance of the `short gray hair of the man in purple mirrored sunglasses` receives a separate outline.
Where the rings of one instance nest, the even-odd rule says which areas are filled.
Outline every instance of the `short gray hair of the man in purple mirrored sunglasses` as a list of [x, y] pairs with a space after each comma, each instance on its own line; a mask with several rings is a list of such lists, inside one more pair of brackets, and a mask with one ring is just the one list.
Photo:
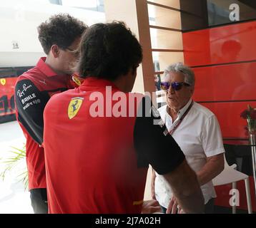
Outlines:
[[182, 73], [184, 75], [184, 82], [195, 86], [195, 73], [189, 66], [185, 66], [183, 63], [173, 63], [165, 68], [164, 78], [166, 78], [170, 72]]

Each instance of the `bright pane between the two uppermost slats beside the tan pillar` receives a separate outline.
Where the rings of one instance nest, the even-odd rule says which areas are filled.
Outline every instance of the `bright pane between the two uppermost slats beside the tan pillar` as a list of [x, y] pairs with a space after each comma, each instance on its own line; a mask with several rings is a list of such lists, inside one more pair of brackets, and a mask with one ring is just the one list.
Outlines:
[[149, 25], [181, 29], [180, 12], [147, 4]]

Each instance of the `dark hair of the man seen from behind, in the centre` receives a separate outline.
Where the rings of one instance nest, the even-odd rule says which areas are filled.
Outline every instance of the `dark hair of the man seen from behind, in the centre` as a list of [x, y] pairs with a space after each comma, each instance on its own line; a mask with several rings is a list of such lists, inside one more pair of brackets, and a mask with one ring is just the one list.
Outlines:
[[142, 46], [123, 22], [94, 24], [82, 36], [77, 66], [83, 78], [97, 77], [114, 81], [135, 71], [142, 62]]

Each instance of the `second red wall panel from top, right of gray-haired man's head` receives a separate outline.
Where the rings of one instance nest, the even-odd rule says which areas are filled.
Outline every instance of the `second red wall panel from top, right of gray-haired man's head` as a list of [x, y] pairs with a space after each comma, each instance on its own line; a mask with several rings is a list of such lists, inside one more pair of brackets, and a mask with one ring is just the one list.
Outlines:
[[195, 100], [256, 100], [256, 62], [193, 70], [196, 78]]

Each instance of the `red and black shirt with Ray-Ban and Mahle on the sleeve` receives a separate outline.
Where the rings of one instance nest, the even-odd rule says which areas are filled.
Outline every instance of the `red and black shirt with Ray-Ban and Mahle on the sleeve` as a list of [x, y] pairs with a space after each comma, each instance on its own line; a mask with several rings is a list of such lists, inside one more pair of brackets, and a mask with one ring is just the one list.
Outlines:
[[43, 112], [51, 95], [74, 88], [67, 75], [57, 75], [40, 58], [34, 68], [16, 81], [16, 118], [26, 137], [26, 164], [29, 172], [29, 190], [46, 188], [43, 138]]

